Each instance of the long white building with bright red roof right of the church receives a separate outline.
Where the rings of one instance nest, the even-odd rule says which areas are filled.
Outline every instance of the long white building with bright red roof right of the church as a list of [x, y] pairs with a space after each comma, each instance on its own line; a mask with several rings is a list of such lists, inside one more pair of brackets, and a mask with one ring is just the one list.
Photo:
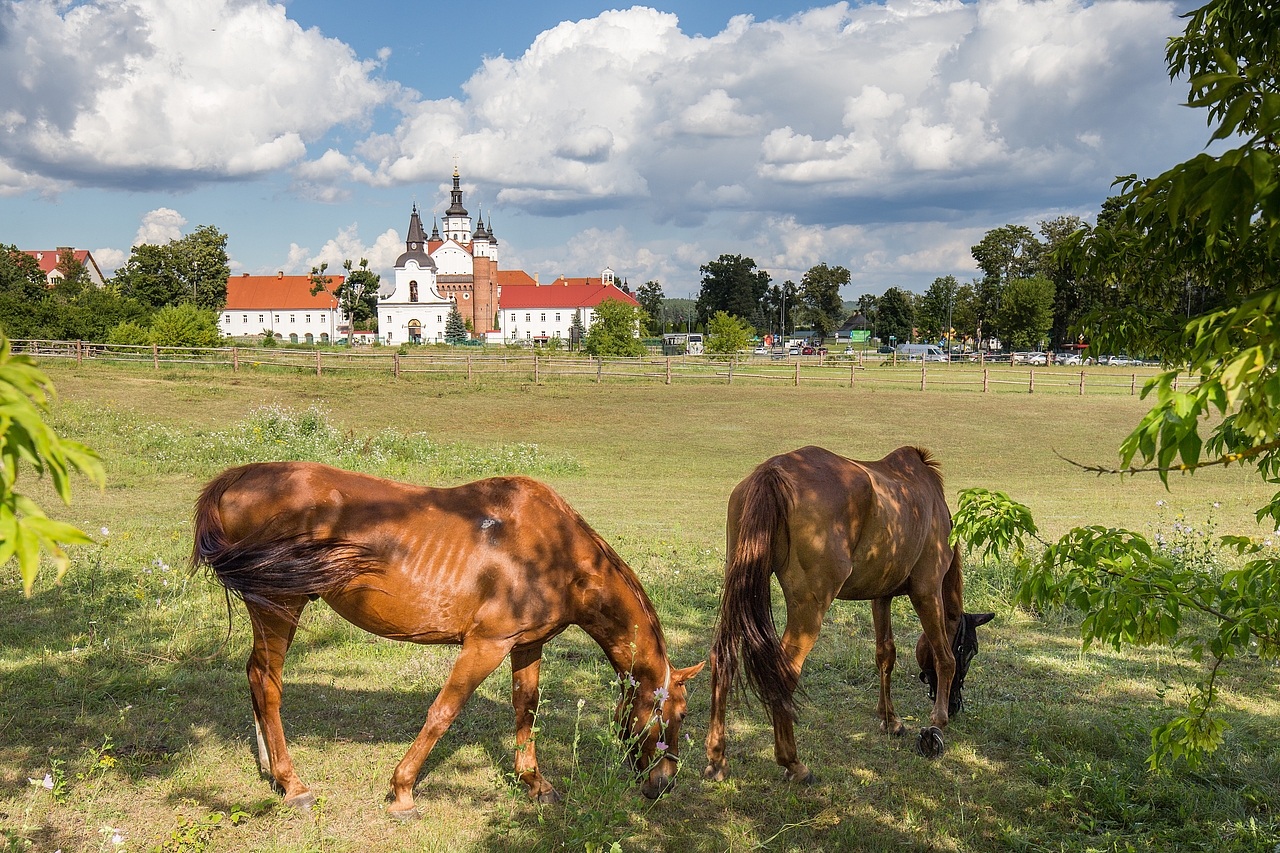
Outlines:
[[550, 284], [503, 284], [498, 295], [503, 341], [567, 341], [575, 311], [581, 313], [582, 329], [589, 329], [595, 320], [595, 307], [604, 300], [640, 305], [617, 286], [608, 268], [599, 278], [561, 277]]

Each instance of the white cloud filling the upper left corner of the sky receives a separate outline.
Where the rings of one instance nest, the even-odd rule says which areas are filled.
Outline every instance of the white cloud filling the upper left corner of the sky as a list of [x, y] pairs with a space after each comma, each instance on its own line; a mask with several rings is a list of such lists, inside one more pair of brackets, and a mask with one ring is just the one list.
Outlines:
[[252, 178], [397, 91], [266, 0], [18, 0], [0, 31], [0, 192]]

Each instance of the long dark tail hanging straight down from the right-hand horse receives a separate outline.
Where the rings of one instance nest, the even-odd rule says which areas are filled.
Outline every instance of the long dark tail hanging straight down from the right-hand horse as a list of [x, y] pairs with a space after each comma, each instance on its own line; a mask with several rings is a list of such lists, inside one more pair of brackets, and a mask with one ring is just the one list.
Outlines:
[[737, 686], [739, 654], [748, 685], [773, 720], [796, 719], [795, 690], [800, 674], [778, 640], [769, 601], [769, 578], [778, 532], [791, 512], [792, 487], [776, 465], [762, 465], [742, 482], [742, 515], [737, 543], [724, 569], [724, 593], [712, 642], [712, 671], [723, 693]]

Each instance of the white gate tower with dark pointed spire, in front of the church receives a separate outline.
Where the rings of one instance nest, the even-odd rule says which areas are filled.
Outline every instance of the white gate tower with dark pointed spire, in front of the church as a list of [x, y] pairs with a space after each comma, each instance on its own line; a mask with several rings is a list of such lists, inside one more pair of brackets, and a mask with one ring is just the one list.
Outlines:
[[[445, 223], [449, 220], [445, 219]], [[385, 284], [378, 292], [378, 338], [383, 343], [440, 343], [444, 341], [444, 324], [453, 310], [456, 296], [440, 293], [438, 268], [428, 254], [428, 238], [422, 231], [422, 220], [417, 215], [417, 205], [408, 220], [408, 238], [404, 252], [396, 259], [396, 278], [390, 287]], [[457, 260], [451, 250], [457, 243], [452, 238], [436, 254], [443, 254], [442, 261]], [[471, 255], [467, 254], [467, 259]]]

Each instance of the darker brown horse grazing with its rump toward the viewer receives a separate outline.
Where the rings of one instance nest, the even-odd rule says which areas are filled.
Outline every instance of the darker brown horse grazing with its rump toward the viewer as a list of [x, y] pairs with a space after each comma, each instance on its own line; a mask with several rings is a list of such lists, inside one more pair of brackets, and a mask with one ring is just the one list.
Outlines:
[[[942, 476], [928, 451], [901, 447], [878, 462], [855, 462], [820, 447], [774, 456], [739, 483], [728, 501], [728, 562], [712, 646], [710, 765], [704, 776], [728, 775], [724, 710], [739, 675], [760, 697], [773, 722], [774, 758], [786, 779], [812, 783], [796, 757], [795, 690], [804, 658], [818, 639], [832, 601], [872, 601], [881, 727], [906, 729], [893, 711], [890, 674], [897, 651], [890, 603], [909, 596], [924, 626], [915, 654], [922, 680], [936, 695], [920, 733], [925, 754], [941, 754], [941, 727], [960, 710], [974, 630], [992, 613], [964, 612], [960, 552], [947, 544], [951, 514]], [[787, 626], [778, 640], [769, 605], [769, 575], [778, 575]], [[936, 686], [934, 686], [936, 685]]]

